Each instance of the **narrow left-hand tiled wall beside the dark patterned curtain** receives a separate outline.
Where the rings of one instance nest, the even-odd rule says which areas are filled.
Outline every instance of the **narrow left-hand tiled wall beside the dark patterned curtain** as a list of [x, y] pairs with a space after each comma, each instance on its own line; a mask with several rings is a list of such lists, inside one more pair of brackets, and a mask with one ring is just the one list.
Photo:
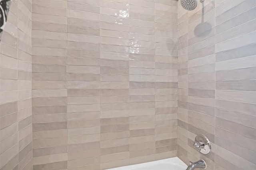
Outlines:
[[12, 0], [0, 43], [0, 170], [32, 170], [31, 0]]

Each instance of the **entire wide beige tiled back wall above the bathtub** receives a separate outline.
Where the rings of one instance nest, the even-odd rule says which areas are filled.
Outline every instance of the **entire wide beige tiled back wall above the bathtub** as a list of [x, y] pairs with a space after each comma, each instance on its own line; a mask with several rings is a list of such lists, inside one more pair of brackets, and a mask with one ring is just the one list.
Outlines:
[[177, 155], [177, 1], [33, 0], [34, 170]]

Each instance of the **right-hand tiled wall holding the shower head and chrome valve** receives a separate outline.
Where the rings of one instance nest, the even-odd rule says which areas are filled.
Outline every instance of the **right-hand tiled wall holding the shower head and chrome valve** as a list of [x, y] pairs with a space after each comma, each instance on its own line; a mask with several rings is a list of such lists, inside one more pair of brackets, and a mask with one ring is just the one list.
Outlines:
[[[191, 12], [178, 3], [178, 34], [178, 156], [255, 170], [256, 1], [205, 0]], [[212, 142], [207, 157], [192, 147], [199, 133]]]

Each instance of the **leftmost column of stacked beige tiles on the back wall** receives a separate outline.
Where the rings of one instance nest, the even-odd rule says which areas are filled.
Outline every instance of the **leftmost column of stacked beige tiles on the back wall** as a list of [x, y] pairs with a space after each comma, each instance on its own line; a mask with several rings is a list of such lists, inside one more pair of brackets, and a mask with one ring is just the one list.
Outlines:
[[75, 93], [67, 87], [69, 77], [76, 77], [68, 71], [68, 62], [76, 58], [68, 57], [67, 2], [33, 0], [32, 12], [33, 167], [65, 169], [71, 140], [67, 127], [72, 126], [68, 95]]

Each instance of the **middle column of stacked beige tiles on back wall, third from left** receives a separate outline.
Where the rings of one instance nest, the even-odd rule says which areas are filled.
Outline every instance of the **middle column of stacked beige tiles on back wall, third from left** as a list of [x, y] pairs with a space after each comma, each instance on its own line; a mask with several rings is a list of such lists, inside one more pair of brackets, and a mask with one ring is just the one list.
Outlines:
[[100, 1], [100, 169], [129, 165], [128, 1]]

